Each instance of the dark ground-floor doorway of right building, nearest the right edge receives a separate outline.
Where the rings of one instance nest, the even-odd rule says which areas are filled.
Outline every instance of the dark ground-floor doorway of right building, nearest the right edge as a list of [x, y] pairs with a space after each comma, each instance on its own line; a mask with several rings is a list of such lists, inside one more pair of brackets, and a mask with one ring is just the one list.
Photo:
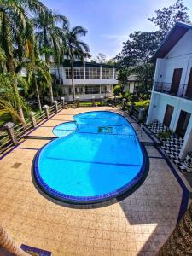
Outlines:
[[189, 119], [190, 119], [190, 113], [181, 110], [178, 122], [177, 122], [177, 128], [176, 128], [176, 134], [179, 137], [184, 137], [185, 132], [187, 131]]

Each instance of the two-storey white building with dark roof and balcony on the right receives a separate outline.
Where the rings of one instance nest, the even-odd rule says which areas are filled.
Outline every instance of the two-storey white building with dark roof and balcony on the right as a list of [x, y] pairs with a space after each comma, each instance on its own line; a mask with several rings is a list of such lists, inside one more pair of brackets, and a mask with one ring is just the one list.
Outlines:
[[164, 123], [184, 143], [179, 157], [192, 151], [192, 26], [177, 22], [153, 56], [154, 87], [147, 124]]

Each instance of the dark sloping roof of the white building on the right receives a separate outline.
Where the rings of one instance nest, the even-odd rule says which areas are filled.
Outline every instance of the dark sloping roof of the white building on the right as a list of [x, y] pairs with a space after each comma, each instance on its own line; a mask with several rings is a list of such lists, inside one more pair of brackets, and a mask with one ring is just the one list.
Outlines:
[[157, 58], [164, 58], [173, 48], [173, 46], [175, 46], [177, 42], [183, 38], [183, 35], [191, 29], [191, 24], [177, 21], [175, 26], [172, 27], [172, 30], [160, 44], [160, 47], [156, 50], [155, 54], [151, 58], [151, 61], [156, 61]]

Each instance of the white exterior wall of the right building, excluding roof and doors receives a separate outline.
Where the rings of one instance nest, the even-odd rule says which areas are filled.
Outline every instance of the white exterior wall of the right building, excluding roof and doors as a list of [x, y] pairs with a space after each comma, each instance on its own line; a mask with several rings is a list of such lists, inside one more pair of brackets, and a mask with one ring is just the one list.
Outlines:
[[[154, 85], [156, 82], [168, 83], [171, 87], [172, 76], [175, 68], [183, 68], [179, 90], [183, 90], [183, 95], [187, 89], [189, 80], [189, 72], [192, 67], [192, 31], [186, 32], [177, 44], [170, 50], [164, 59], [157, 59]], [[184, 88], [184, 89], [183, 89]], [[170, 129], [175, 131], [177, 121], [181, 110], [191, 113], [189, 125], [184, 136], [183, 148], [180, 153], [180, 158], [183, 159], [187, 152], [192, 151], [192, 101], [183, 97], [172, 96], [156, 91], [152, 91], [150, 107], [148, 110], [147, 124], [158, 119], [163, 122], [166, 105], [174, 107]]]

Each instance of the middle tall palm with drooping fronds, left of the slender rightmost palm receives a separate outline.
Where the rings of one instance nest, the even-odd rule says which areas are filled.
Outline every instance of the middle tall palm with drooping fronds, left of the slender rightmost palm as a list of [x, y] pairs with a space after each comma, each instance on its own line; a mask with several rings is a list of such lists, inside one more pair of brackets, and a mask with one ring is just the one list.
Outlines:
[[[45, 61], [49, 64], [53, 58], [55, 61], [60, 61], [61, 56], [64, 55], [63, 44], [65, 44], [64, 33], [59, 22], [67, 23], [67, 18], [63, 15], [55, 15], [51, 12], [38, 15], [33, 19], [33, 24], [38, 30], [36, 32], [36, 40], [38, 49], [41, 55], [44, 55]], [[54, 101], [52, 84], [49, 86], [50, 101]]]

